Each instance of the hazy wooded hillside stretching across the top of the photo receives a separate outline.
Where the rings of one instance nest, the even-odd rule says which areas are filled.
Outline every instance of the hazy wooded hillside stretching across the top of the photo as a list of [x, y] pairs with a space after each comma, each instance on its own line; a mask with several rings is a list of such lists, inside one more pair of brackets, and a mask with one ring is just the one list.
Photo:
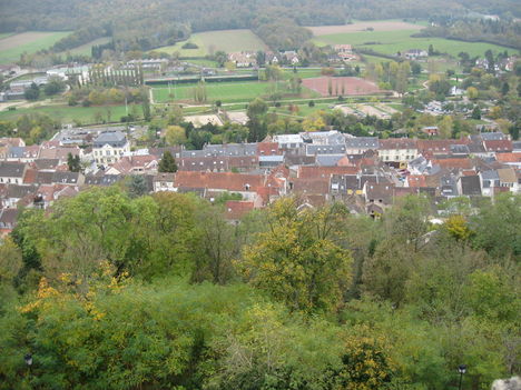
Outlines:
[[53, 0], [0, 0], [0, 32], [80, 31], [60, 41], [56, 50], [105, 36], [112, 37], [122, 50], [149, 50], [186, 39], [190, 32], [239, 28], [254, 29], [273, 49], [295, 49], [306, 34], [298, 26], [343, 24], [352, 19], [427, 19], [470, 11], [521, 16], [515, 0], [71, 0], [60, 7]]

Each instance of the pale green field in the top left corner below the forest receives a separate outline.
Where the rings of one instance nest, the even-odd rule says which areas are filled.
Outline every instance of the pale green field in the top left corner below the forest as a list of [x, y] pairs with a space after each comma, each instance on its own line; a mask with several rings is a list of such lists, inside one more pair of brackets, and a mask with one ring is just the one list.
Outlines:
[[23, 52], [35, 53], [42, 49], [49, 49], [69, 31], [39, 32], [30, 31], [8, 36], [0, 39], [0, 63], [13, 63], [20, 59]]

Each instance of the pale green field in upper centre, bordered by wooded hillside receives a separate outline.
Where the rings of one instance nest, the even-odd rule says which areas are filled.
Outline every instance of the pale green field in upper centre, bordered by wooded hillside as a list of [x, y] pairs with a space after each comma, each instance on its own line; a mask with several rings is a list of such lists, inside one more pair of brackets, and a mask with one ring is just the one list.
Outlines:
[[183, 49], [186, 42], [155, 49], [169, 54], [178, 51], [183, 57], [205, 57], [212, 51], [257, 51], [267, 50], [266, 44], [250, 30], [219, 30], [191, 34], [187, 42], [197, 44], [198, 49]]

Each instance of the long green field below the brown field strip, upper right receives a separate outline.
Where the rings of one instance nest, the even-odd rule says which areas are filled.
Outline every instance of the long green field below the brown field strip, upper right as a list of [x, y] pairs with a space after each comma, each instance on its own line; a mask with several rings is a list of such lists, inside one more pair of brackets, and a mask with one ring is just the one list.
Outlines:
[[[443, 38], [412, 38], [411, 34], [416, 32], [414, 30], [397, 30], [335, 33], [314, 38], [313, 42], [317, 46], [351, 43], [356, 48], [371, 49], [383, 54], [395, 54], [399, 51], [403, 52], [410, 49], [427, 50], [430, 44], [433, 46], [434, 50], [453, 57], [456, 57], [462, 51], [466, 51], [471, 57], [483, 57], [484, 52], [489, 49], [494, 52], [503, 50], [515, 51], [491, 43], [463, 42]], [[367, 44], [372, 42], [376, 44]]]

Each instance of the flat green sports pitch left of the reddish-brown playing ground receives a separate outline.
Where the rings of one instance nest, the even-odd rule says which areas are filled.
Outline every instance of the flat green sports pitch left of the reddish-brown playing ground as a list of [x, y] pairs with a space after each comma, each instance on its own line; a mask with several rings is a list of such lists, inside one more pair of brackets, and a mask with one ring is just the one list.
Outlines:
[[[176, 100], [191, 100], [193, 89], [196, 84], [179, 84], [168, 87], [154, 88], [154, 101], [161, 103]], [[262, 81], [245, 81], [245, 82], [208, 82], [206, 83], [206, 92], [208, 102], [222, 100], [223, 102], [246, 102], [254, 100], [268, 93], [271, 83]], [[285, 83], [278, 84], [278, 91], [289, 93]], [[171, 94], [171, 97], [170, 97]], [[312, 91], [307, 91], [308, 96], [317, 96]]]

